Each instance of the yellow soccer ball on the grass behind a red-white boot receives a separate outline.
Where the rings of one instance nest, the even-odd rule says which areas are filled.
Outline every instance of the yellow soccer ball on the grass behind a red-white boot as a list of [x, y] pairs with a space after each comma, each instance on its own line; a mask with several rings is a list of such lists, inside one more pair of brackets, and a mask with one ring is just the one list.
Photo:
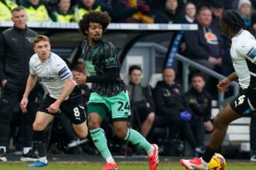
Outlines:
[[226, 166], [226, 161], [223, 155], [215, 153], [209, 162], [209, 170], [223, 170]]

